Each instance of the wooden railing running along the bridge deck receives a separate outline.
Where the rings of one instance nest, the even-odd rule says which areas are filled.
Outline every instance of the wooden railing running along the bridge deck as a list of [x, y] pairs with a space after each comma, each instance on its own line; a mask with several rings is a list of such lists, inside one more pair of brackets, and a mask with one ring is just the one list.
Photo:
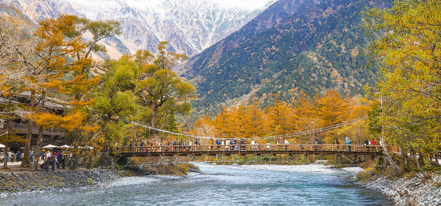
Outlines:
[[179, 153], [210, 151], [296, 151], [296, 152], [383, 152], [378, 145], [345, 145], [345, 144], [236, 144], [236, 145], [192, 145], [192, 146], [126, 146], [118, 148], [120, 154], [127, 153]]

